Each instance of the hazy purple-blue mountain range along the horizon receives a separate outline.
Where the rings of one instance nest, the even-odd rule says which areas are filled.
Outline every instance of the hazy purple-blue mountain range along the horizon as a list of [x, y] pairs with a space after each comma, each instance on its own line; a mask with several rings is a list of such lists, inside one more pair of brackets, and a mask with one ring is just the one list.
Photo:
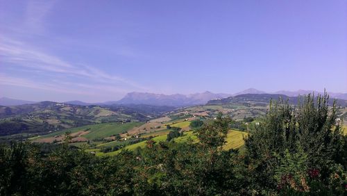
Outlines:
[[[212, 99], [222, 99], [227, 97], [235, 97], [237, 95], [246, 95], [246, 94], [271, 94], [271, 95], [286, 95], [288, 97], [296, 97], [298, 95], [307, 95], [309, 93], [314, 93], [315, 95], [323, 94], [323, 92], [317, 92], [314, 90], [296, 90], [296, 91], [288, 91], [288, 90], [280, 90], [277, 92], [264, 92], [262, 90], [257, 90], [255, 88], [248, 88], [241, 92], [237, 92], [235, 94], [227, 94], [227, 93], [213, 93], [210, 91], [198, 92], [189, 95], [183, 94], [174, 94], [174, 95], [164, 95], [164, 94], [155, 94], [150, 92], [129, 92], [122, 99], [118, 101], [105, 101], [99, 103], [87, 103], [83, 101], [66, 101], [65, 104], [73, 104], [79, 106], [108, 106], [114, 104], [146, 104], [152, 106], [192, 106], [192, 105], [201, 105], [206, 104], [208, 101]], [[339, 92], [328, 92], [330, 98], [335, 99], [346, 99], [347, 93], [339, 93]], [[0, 106], [16, 106], [22, 104], [33, 104], [35, 101], [24, 101], [18, 99], [10, 99], [7, 97], [0, 98]]]

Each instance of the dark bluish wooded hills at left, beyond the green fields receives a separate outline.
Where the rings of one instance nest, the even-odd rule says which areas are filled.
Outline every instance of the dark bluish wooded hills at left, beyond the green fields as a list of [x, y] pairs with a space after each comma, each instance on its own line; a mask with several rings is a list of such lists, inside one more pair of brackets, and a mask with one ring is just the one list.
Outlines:
[[174, 108], [167, 106], [78, 106], [51, 101], [0, 106], [0, 136], [47, 133], [101, 122], [145, 122]]

